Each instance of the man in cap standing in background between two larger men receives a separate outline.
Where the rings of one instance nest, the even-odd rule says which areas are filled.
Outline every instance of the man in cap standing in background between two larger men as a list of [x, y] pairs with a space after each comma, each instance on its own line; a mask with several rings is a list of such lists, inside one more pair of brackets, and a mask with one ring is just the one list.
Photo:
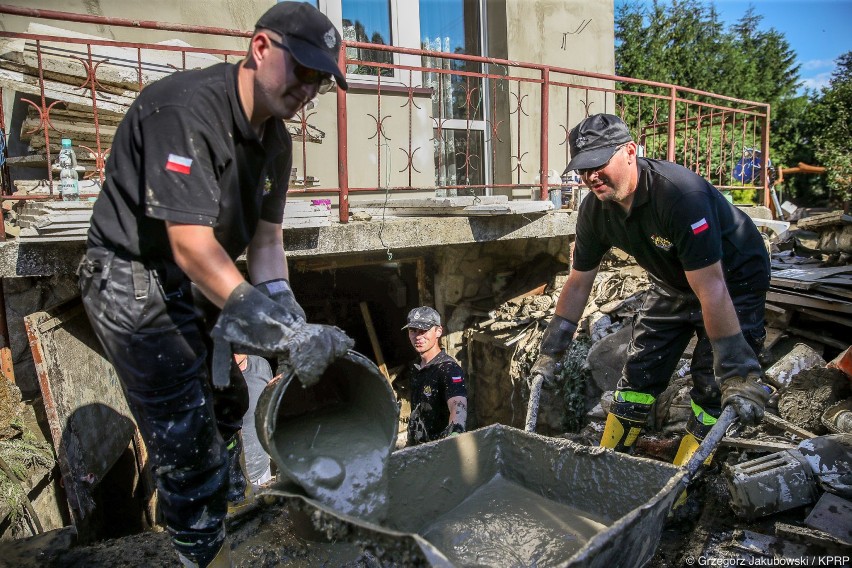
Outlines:
[[411, 387], [411, 415], [407, 446], [461, 434], [467, 424], [467, 387], [464, 371], [438, 342], [441, 316], [429, 306], [408, 312], [408, 340], [420, 355], [407, 373]]

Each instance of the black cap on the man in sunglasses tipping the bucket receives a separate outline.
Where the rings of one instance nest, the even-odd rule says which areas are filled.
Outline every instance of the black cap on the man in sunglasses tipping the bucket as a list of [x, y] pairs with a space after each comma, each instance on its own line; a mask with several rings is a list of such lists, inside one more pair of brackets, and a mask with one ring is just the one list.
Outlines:
[[337, 65], [340, 33], [325, 14], [306, 2], [281, 2], [266, 11], [254, 26], [271, 30], [300, 65], [334, 75], [344, 91], [349, 88]]

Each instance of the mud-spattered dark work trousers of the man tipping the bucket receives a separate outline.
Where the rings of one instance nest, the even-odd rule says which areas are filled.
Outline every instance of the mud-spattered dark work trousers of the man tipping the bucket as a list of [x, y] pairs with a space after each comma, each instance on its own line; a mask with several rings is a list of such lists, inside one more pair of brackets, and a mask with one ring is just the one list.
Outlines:
[[146, 266], [90, 248], [79, 276], [89, 321], [148, 447], [172, 541], [204, 566], [225, 538], [225, 440], [239, 432], [248, 408], [245, 381], [234, 363], [227, 389], [210, 386], [214, 311], [196, 305], [176, 265]]

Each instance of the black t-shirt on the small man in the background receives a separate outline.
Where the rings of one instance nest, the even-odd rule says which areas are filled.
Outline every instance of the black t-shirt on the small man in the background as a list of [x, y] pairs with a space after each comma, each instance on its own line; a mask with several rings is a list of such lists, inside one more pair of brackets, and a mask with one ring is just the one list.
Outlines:
[[454, 396], [467, 397], [464, 371], [442, 350], [422, 367], [419, 359], [412, 363], [408, 377], [411, 383], [408, 445], [437, 440], [450, 421], [447, 401]]

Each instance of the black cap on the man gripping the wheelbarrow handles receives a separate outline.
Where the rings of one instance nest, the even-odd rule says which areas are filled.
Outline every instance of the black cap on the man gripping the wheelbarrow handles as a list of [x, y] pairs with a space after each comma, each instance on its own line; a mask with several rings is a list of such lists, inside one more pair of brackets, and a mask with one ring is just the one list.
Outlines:
[[612, 158], [618, 147], [631, 142], [630, 130], [614, 114], [593, 114], [568, 133], [571, 161], [566, 172], [598, 168]]

